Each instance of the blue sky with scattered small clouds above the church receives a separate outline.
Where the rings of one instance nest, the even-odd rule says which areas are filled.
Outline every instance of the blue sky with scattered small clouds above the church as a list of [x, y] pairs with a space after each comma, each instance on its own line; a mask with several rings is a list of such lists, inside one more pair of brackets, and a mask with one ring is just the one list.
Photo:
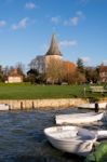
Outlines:
[[56, 35], [63, 58], [107, 65], [107, 0], [0, 0], [0, 65], [26, 67]]

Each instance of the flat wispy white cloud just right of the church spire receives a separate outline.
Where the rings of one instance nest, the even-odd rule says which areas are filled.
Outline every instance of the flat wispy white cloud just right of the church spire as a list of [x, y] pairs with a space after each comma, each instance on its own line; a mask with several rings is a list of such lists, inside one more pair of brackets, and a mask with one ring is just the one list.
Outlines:
[[61, 41], [59, 42], [59, 45], [61, 46], [66, 46], [66, 48], [69, 48], [69, 46], [76, 46], [78, 43], [76, 40], [64, 40], [64, 41]]

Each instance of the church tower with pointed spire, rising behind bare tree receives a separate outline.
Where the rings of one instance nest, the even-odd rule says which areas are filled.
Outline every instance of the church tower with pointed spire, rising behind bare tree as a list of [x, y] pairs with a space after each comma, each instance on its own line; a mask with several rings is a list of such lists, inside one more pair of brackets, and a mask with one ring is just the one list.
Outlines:
[[46, 83], [57, 83], [59, 82], [59, 73], [63, 69], [63, 57], [58, 49], [58, 43], [56, 41], [55, 35], [52, 36], [51, 44], [48, 52], [44, 55], [45, 59], [45, 75]]

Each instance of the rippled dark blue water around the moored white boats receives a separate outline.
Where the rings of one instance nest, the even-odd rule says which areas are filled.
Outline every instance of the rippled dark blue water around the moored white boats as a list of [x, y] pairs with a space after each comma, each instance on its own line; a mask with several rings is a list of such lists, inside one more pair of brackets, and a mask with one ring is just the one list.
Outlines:
[[[43, 134], [44, 127], [55, 125], [56, 113], [72, 111], [84, 110], [0, 111], [0, 162], [82, 162], [83, 158], [53, 148]], [[85, 127], [107, 129], [106, 117]]]

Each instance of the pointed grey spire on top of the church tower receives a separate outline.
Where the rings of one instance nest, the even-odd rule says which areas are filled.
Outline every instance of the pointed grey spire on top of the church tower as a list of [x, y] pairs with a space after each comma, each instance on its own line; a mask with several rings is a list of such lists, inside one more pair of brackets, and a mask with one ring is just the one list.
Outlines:
[[58, 44], [55, 38], [55, 35], [52, 36], [51, 45], [45, 55], [59, 55], [62, 56], [61, 51], [58, 50]]

